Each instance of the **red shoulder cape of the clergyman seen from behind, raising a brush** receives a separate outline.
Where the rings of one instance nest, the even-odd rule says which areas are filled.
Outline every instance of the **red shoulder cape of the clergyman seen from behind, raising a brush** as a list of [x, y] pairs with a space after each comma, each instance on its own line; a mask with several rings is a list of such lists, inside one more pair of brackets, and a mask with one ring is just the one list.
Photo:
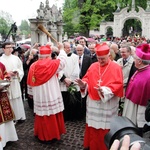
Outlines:
[[59, 59], [39, 59], [29, 69], [27, 84], [39, 86], [46, 83], [57, 71], [60, 64]]

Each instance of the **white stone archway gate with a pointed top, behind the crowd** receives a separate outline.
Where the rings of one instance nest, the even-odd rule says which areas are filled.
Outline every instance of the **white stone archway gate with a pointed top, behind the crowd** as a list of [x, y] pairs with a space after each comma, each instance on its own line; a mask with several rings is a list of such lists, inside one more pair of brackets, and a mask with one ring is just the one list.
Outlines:
[[111, 24], [113, 28], [113, 36], [121, 37], [124, 23], [128, 19], [138, 19], [142, 24], [142, 36], [150, 39], [150, 11], [144, 10], [138, 7], [139, 11], [135, 11], [135, 3], [132, 2], [132, 9], [128, 12], [129, 7], [125, 7], [122, 10], [114, 12], [114, 22], [102, 22], [100, 24], [100, 34], [106, 35], [106, 28], [108, 24]]

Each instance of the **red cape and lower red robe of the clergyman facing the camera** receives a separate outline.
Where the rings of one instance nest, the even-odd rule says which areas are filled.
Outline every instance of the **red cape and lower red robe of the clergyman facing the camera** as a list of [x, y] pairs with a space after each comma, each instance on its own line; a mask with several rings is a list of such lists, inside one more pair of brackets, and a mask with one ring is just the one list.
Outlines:
[[[123, 96], [123, 75], [118, 64], [109, 60], [109, 63], [105, 66], [100, 66], [99, 62], [90, 66], [82, 80], [88, 84], [88, 94], [91, 100], [100, 100], [97, 90], [94, 89], [100, 79], [102, 81], [101, 86], [110, 88], [112, 93], [117, 97]], [[108, 132], [109, 129], [95, 129], [86, 124], [84, 148], [90, 147], [90, 150], [107, 150], [104, 143], [104, 136]]]

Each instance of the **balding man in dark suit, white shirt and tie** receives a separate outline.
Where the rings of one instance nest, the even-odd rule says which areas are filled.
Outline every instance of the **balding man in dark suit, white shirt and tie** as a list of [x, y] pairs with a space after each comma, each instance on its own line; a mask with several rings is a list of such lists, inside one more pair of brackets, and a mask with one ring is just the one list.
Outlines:
[[84, 54], [84, 47], [80, 44], [77, 45], [76, 51], [79, 56], [80, 79], [82, 79], [91, 65], [91, 57]]

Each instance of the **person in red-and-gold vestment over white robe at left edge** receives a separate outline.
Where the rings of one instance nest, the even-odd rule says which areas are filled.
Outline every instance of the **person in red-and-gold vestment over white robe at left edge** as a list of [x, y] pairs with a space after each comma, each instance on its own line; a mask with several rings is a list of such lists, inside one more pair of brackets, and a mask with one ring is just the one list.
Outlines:
[[[7, 77], [6, 68], [0, 62], [0, 81], [4, 80], [5, 77]], [[4, 88], [0, 86], [0, 142], [2, 147], [5, 147], [8, 141], [18, 140], [13, 123], [14, 113], [9, 102], [8, 93]]]

